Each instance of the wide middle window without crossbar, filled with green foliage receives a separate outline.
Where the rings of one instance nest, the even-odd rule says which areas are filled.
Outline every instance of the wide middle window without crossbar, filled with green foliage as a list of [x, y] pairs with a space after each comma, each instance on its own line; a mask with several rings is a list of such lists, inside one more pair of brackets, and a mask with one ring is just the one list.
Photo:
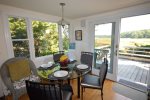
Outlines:
[[57, 23], [32, 21], [32, 28], [36, 57], [59, 51]]

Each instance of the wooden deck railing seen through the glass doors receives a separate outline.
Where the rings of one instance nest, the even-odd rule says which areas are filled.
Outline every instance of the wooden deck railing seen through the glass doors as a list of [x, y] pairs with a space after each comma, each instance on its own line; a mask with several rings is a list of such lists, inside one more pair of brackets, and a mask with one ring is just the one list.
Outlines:
[[[123, 50], [119, 50], [119, 58], [132, 59], [137, 61], [150, 62], [150, 47], [123, 47]], [[96, 52], [102, 50], [109, 50], [110, 46], [97, 47], [94, 50]], [[110, 53], [108, 53], [109, 55]], [[100, 52], [99, 52], [100, 55]]]

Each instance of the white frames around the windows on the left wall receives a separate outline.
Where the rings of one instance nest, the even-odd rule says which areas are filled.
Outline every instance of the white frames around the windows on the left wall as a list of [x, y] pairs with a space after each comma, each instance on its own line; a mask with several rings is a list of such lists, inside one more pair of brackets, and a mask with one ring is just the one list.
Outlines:
[[[43, 21], [43, 22], [50, 22], [50, 23], [56, 23], [58, 24], [56, 21], [52, 21], [52, 20], [47, 20], [47, 19], [37, 19], [37, 18], [29, 18], [29, 17], [25, 17], [25, 16], [16, 16], [16, 15], [6, 15], [4, 16], [4, 23], [5, 27], [4, 30], [6, 32], [5, 34], [5, 38], [6, 38], [6, 46], [7, 46], [7, 51], [8, 51], [8, 56], [9, 58], [11, 57], [15, 57], [14, 55], [14, 50], [13, 50], [13, 42], [12, 40], [21, 40], [21, 41], [25, 41], [27, 40], [29, 43], [29, 53], [30, 53], [30, 59], [38, 59], [38, 58], [44, 58], [44, 57], [48, 57], [51, 55], [45, 55], [45, 56], [40, 56], [40, 57], [36, 57], [35, 56], [35, 48], [34, 48], [34, 36], [33, 36], [33, 28], [32, 28], [32, 21]], [[11, 33], [10, 33], [10, 25], [9, 25], [9, 17], [16, 17], [16, 18], [24, 18], [25, 22], [26, 22], [26, 29], [27, 29], [27, 39], [12, 39], [11, 38]], [[69, 33], [70, 33], [70, 26], [68, 28]], [[62, 44], [62, 33], [61, 33], [61, 26], [58, 25], [58, 48], [59, 50], [63, 50], [63, 44]], [[69, 34], [69, 41], [70, 41], [70, 34]], [[69, 50], [69, 49], [68, 49]]]

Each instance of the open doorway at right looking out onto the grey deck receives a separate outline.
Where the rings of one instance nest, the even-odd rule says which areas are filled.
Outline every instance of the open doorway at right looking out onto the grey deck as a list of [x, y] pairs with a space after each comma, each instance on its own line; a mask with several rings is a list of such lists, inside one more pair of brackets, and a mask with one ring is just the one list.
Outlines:
[[121, 19], [118, 81], [147, 85], [150, 67], [150, 14]]

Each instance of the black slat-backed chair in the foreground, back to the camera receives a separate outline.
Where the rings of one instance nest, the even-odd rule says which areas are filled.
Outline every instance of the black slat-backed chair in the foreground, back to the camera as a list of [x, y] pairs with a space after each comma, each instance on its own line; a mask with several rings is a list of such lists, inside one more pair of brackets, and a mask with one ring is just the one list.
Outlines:
[[30, 100], [71, 100], [70, 85], [61, 86], [60, 83], [39, 83], [26, 80], [26, 89]]

